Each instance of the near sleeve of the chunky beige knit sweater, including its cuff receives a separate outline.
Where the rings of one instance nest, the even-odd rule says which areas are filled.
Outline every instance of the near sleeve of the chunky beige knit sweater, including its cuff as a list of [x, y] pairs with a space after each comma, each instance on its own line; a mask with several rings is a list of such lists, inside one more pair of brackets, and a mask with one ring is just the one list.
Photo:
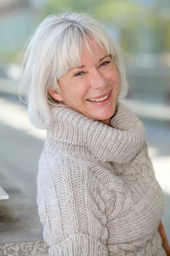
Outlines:
[[37, 205], [49, 256], [108, 256], [105, 204], [97, 180], [77, 159], [43, 158]]

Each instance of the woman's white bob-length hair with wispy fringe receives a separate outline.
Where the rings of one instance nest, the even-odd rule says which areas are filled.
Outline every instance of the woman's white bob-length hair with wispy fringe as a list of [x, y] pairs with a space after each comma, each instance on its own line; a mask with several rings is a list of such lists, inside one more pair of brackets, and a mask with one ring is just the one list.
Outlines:
[[40, 23], [30, 38], [23, 61], [23, 77], [19, 84], [19, 95], [21, 99], [25, 97], [32, 125], [37, 128], [51, 126], [51, 108], [60, 103], [48, 94], [48, 90], [60, 92], [59, 78], [70, 67], [81, 65], [82, 44], [85, 43], [91, 52], [88, 43], [91, 39], [103, 51], [111, 54], [119, 72], [118, 100], [125, 97], [128, 84], [122, 51], [102, 24], [85, 13], [50, 15]]

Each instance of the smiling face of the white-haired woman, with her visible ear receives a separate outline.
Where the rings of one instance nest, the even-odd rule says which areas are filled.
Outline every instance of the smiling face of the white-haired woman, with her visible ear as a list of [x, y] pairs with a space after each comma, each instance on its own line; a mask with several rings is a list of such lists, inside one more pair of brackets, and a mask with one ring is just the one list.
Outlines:
[[119, 73], [110, 55], [102, 52], [98, 45], [90, 43], [90, 46], [97, 57], [91, 56], [84, 44], [82, 66], [69, 70], [59, 79], [61, 95], [48, 93], [69, 108], [109, 124], [119, 93]]

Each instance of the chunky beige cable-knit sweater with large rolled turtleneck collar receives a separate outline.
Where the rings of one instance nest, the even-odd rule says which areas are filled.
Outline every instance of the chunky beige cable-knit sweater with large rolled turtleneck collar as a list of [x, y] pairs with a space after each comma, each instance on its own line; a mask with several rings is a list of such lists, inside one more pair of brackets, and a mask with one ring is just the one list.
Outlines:
[[111, 126], [64, 106], [53, 113], [37, 175], [49, 255], [165, 256], [164, 195], [142, 122], [120, 103]]

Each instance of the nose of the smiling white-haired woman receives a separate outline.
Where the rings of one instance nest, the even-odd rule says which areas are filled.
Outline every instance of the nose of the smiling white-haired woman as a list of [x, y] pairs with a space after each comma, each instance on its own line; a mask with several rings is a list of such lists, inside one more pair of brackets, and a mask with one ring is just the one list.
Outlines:
[[99, 70], [93, 70], [91, 75], [91, 87], [93, 89], [105, 89], [108, 85], [108, 80], [99, 72]]

